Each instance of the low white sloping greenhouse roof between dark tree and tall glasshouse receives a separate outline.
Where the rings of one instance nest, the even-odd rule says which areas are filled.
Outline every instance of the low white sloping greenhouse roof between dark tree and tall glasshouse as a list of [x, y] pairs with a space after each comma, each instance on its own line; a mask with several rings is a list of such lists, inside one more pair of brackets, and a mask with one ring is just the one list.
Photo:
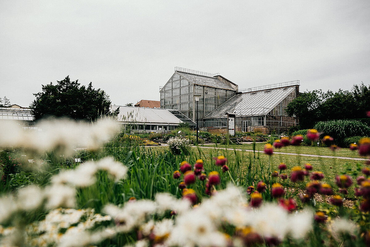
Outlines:
[[[114, 111], [118, 107], [120, 107], [120, 113], [117, 116], [118, 122], [141, 124], [179, 124], [185, 121], [185, 119], [190, 120], [183, 114], [181, 114], [181, 117], [184, 118], [184, 120], [180, 120], [179, 117], [175, 116], [167, 109], [133, 106], [112, 106], [111, 108]], [[177, 114], [179, 114], [179, 112]]]

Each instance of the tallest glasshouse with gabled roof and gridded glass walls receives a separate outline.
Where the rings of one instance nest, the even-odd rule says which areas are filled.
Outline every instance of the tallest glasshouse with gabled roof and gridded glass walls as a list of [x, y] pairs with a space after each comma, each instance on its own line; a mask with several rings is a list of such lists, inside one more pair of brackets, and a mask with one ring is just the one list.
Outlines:
[[[219, 74], [175, 67], [171, 79], [161, 87], [161, 108], [176, 109], [196, 122], [198, 107], [199, 127], [203, 117], [235, 96], [238, 85]], [[194, 95], [200, 95], [195, 101]], [[197, 106], [198, 105], [198, 106]]]

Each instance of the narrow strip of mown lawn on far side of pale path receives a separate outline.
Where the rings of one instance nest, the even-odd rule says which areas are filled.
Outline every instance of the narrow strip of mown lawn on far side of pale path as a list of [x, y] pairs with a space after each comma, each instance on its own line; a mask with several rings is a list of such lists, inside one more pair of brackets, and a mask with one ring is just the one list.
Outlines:
[[[207, 145], [207, 146], [216, 147], [216, 144]], [[264, 146], [265, 146], [265, 143], [256, 143], [256, 150], [263, 151]], [[253, 150], [253, 144], [241, 144], [241, 145], [240, 144], [238, 145], [217, 144], [217, 147]], [[339, 148], [336, 151], [332, 151], [328, 147], [287, 146], [287, 147], [282, 147], [282, 148], [274, 148], [274, 152], [364, 158], [364, 157], [359, 156], [359, 153], [357, 151], [352, 151], [349, 148]]]

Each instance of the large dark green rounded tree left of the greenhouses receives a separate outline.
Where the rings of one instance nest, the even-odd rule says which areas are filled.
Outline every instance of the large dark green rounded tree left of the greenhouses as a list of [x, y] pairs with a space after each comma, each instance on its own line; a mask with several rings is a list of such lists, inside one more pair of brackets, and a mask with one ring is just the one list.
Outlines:
[[117, 115], [119, 109], [110, 111], [109, 96], [101, 89], [94, 89], [92, 83], [88, 87], [80, 86], [78, 80], [71, 81], [69, 76], [57, 84], [42, 85], [42, 92], [34, 94], [36, 100], [30, 108], [34, 119], [43, 117], [71, 117], [95, 121], [102, 115]]

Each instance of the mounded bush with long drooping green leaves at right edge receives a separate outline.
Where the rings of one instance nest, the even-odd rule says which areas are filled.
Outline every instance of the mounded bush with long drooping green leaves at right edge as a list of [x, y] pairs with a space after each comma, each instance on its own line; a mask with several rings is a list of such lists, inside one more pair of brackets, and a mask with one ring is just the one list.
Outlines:
[[346, 146], [344, 138], [351, 136], [370, 136], [370, 127], [356, 120], [331, 120], [318, 122], [314, 128], [322, 132], [322, 137], [329, 135], [341, 147]]

